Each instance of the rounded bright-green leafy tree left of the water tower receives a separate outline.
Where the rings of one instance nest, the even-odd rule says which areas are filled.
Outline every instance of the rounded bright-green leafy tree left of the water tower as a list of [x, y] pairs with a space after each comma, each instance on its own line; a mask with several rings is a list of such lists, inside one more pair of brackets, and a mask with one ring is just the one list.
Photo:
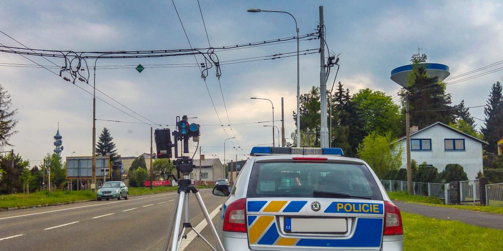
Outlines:
[[398, 137], [403, 131], [400, 109], [393, 103], [391, 96], [382, 91], [362, 89], [351, 98], [360, 110], [363, 118], [363, 130], [370, 134], [376, 132], [385, 134], [391, 132], [392, 137]]

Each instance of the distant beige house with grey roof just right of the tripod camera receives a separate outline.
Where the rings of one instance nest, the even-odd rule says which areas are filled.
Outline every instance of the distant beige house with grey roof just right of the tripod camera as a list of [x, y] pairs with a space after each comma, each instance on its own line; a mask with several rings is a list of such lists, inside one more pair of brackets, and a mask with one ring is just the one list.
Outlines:
[[216, 181], [225, 178], [224, 167], [220, 159], [206, 159], [204, 155], [201, 155], [200, 160], [194, 160], [196, 168], [190, 174], [192, 180], [199, 180], [199, 166], [201, 166], [201, 181]]

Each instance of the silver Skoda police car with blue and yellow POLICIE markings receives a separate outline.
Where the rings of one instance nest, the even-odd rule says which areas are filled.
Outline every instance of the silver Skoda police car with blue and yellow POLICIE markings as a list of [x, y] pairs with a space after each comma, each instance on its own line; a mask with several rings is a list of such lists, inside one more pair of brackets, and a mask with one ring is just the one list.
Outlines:
[[340, 148], [254, 147], [217, 225], [225, 250], [402, 250], [400, 210]]

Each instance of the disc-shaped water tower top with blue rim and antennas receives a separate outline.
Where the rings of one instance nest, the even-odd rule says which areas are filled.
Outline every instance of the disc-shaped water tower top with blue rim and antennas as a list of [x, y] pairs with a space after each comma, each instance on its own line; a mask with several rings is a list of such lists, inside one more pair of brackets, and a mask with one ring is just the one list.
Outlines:
[[[451, 73], [449, 72], [449, 66], [439, 63], [427, 63], [426, 54], [421, 55], [421, 48], [417, 50], [417, 54], [412, 55], [411, 63], [419, 62], [420, 67], [425, 67], [426, 74], [429, 77], [438, 77], [438, 81], [443, 81]], [[407, 76], [412, 72], [412, 64], [397, 67], [391, 71], [391, 80], [395, 83], [401, 85], [402, 87], [407, 87]]]

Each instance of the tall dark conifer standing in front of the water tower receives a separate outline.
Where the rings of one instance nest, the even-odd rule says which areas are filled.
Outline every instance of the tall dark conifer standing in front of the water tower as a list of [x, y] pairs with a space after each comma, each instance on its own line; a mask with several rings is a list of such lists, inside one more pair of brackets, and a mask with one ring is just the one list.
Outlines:
[[[420, 129], [435, 122], [453, 123], [456, 110], [452, 110], [451, 94], [445, 93], [445, 83], [438, 82], [438, 77], [429, 77], [426, 68], [416, 64], [407, 78], [406, 89], [409, 96], [410, 125]], [[405, 110], [402, 109], [402, 114]], [[405, 116], [405, 115], [403, 115]]]

